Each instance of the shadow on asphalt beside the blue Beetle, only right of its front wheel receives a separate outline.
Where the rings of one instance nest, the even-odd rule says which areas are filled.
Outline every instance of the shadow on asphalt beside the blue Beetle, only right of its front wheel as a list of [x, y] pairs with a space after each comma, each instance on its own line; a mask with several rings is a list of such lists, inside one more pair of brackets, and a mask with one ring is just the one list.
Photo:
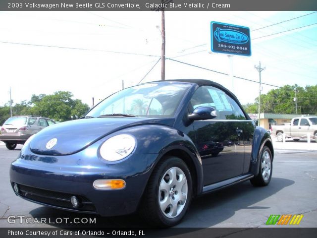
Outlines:
[[269, 209], [266, 206], [253, 206], [270, 197], [295, 181], [272, 177], [270, 184], [264, 187], [254, 187], [249, 181], [206, 194], [195, 199], [181, 224], [177, 227], [212, 227], [230, 217], [239, 210]]

